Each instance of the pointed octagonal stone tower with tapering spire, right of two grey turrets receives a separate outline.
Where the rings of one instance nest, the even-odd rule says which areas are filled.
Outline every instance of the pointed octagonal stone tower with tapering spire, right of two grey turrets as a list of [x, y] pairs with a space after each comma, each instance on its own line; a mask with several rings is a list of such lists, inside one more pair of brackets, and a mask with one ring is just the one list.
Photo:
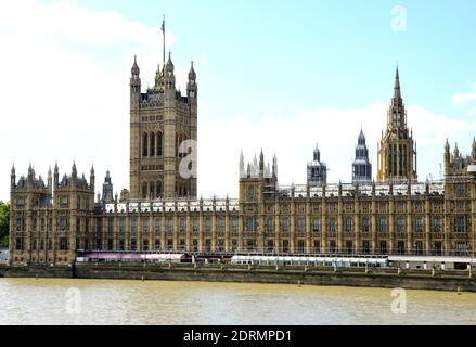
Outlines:
[[416, 182], [416, 144], [407, 126], [407, 111], [397, 67], [387, 130], [378, 145], [378, 182]]

